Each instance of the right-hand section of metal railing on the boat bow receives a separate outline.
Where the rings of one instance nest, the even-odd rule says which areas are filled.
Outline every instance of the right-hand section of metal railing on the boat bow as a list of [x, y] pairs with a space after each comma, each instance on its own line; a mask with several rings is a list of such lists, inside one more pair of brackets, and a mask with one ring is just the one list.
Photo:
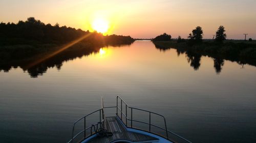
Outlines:
[[[119, 101], [120, 101], [120, 104], [121, 104], [121, 105], [120, 105], [120, 108], [118, 107], [118, 102], [119, 102]], [[124, 111], [123, 111], [123, 104], [125, 105], [125, 110], [124, 110]], [[127, 108], [131, 110], [130, 118], [127, 117]], [[139, 111], [147, 112], [147, 113], [148, 113], [148, 117], [149, 117], [148, 123], [147, 123], [147, 122], [143, 122], [143, 121], [135, 120], [135, 119], [133, 118], [133, 110], [139, 110]], [[120, 116], [121, 116], [121, 117], [119, 116], [118, 111], [120, 111]], [[153, 127], [158, 128], [158, 129], [161, 129], [161, 130], [163, 130], [163, 131], [165, 132], [165, 135], [160, 135], [160, 134], [157, 134], [157, 135], [160, 135], [160, 136], [162, 136], [162, 137], [164, 137], [164, 138], [166, 138], [166, 139], [168, 139], [168, 140], [170, 140], [170, 141], [176, 142], [176, 141], [174, 141], [172, 138], [169, 138], [169, 134], [172, 134], [172, 135], [178, 137], [179, 139], [182, 139], [182, 140], [185, 141], [185, 142], [191, 143], [189, 140], [185, 139], [184, 137], [182, 137], [182, 136], [180, 136], [180, 135], [178, 135], [178, 134], [176, 134], [176, 133], [174, 133], [174, 132], [172, 132], [172, 131], [169, 131], [169, 130], [167, 129], [166, 120], [165, 120], [164, 116], [162, 116], [162, 115], [160, 115], [159, 113], [156, 113], [156, 112], [152, 112], [152, 111], [148, 111], [148, 110], [144, 110], [144, 109], [139, 109], [139, 108], [130, 107], [130, 106], [129, 106], [127, 103], [125, 103], [125, 101], [124, 101], [121, 97], [119, 97], [119, 96], [116, 97], [116, 115], [117, 115], [117, 117], [118, 117], [122, 122], [123, 122], [123, 117], [125, 117], [125, 123], [124, 123], [124, 125], [125, 125], [127, 128], [135, 128], [135, 127], [133, 126], [133, 122], [142, 123], [142, 124], [148, 125], [148, 130], [143, 130], [143, 129], [141, 129], [141, 130], [143, 130], [143, 131], [157, 134], [157, 133], [151, 131], [151, 127], [153, 126]], [[160, 126], [157, 126], [157, 125], [154, 125], [154, 124], [151, 123], [152, 115], [159, 116], [159, 117], [161, 117], [161, 118], [163, 119], [164, 128], [163, 128], [163, 127], [160, 127]], [[130, 126], [127, 125], [127, 121], [130, 121], [130, 122], [131, 122], [131, 125], [130, 125]], [[138, 129], [138, 128], [137, 128], [137, 129]]]

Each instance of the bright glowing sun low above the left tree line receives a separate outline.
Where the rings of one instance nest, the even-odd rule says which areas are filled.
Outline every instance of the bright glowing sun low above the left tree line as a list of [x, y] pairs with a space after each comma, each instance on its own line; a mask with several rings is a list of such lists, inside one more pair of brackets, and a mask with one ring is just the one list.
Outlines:
[[93, 28], [93, 30], [95, 30], [99, 33], [105, 34], [109, 30], [109, 22], [107, 20], [101, 19], [101, 18], [95, 19], [92, 22], [92, 28]]

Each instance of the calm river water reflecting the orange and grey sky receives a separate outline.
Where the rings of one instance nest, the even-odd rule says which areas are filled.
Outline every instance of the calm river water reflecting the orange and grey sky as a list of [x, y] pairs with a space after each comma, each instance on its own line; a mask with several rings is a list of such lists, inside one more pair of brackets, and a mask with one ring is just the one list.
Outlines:
[[115, 105], [116, 95], [161, 113], [193, 142], [256, 142], [256, 67], [189, 57], [136, 41], [66, 60], [37, 78], [1, 71], [0, 142], [67, 142], [76, 119], [98, 109], [101, 96]]

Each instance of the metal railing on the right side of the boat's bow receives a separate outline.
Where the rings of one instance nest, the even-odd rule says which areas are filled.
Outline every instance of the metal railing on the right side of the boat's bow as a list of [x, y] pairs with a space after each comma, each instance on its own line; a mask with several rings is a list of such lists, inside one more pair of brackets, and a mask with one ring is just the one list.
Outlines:
[[[133, 122], [143, 123], [143, 124], [149, 125], [149, 130], [148, 130], [149, 132], [151, 132], [151, 126], [154, 126], [154, 127], [157, 127], [157, 128], [159, 128], [159, 129], [164, 130], [165, 133], [166, 133], [166, 136], [163, 136], [163, 137], [166, 138], [166, 139], [168, 139], [168, 140], [170, 140], [170, 138], [168, 137], [168, 133], [171, 133], [171, 134], [173, 134], [173, 135], [175, 135], [175, 136], [177, 136], [177, 137], [183, 139], [184, 141], [191, 143], [189, 140], [185, 139], [184, 137], [182, 137], [182, 136], [180, 136], [180, 135], [178, 135], [178, 134], [176, 134], [176, 133], [174, 133], [174, 132], [172, 132], [172, 131], [167, 130], [165, 117], [162, 116], [162, 115], [160, 115], [159, 113], [152, 112], [152, 111], [148, 111], [148, 110], [144, 110], [144, 109], [139, 109], [139, 108], [135, 108], [135, 107], [130, 107], [130, 106], [129, 106], [121, 97], [119, 97], [119, 96], [117, 96], [116, 99], [117, 99], [117, 101], [116, 101], [116, 103], [117, 103], [117, 105], [116, 105], [116, 115], [117, 115], [118, 118], [120, 118], [119, 115], [118, 115], [118, 110], [119, 110], [119, 111], [120, 111], [120, 114], [121, 114], [121, 118], [120, 118], [121, 121], [122, 121], [122, 116], [125, 117], [125, 120], [126, 120], [125, 126], [126, 126], [126, 127], [128, 127], [128, 126], [127, 126], [127, 120], [131, 121], [131, 128], [134, 128], [134, 127], [133, 127]], [[121, 109], [118, 107], [118, 101], [119, 101], [118, 99], [120, 99], [120, 101], [121, 101]], [[123, 112], [123, 110], [122, 110], [122, 103], [125, 104], [125, 112]], [[129, 118], [127, 117], [127, 107], [131, 109], [131, 119], [129, 119]], [[134, 119], [133, 119], [133, 109], [135, 109], [135, 110], [141, 110], [141, 111], [144, 111], [144, 112], [148, 112], [148, 113], [149, 113], [149, 118], [150, 118], [150, 119], [149, 119], [149, 122], [150, 122], [150, 123], [146, 123], [146, 122], [134, 120]], [[165, 126], [165, 127], [162, 128], [162, 127], [159, 127], [159, 126], [157, 126], [157, 125], [151, 124], [151, 114], [154, 114], [154, 115], [157, 115], [157, 116], [162, 117], [163, 120], [164, 120], [164, 126]], [[123, 122], [123, 121], [122, 121], [122, 122]], [[144, 130], [144, 131], [147, 131], [147, 130]], [[160, 136], [162, 136], [162, 135], [160, 135]], [[170, 140], [170, 141], [172, 141], [172, 140]]]

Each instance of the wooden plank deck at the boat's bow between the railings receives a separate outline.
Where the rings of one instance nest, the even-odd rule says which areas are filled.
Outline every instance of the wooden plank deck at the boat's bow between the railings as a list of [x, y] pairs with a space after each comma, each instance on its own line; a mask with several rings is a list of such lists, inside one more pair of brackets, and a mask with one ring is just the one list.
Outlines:
[[118, 139], [129, 140], [133, 142], [144, 141], [152, 142], [158, 140], [155, 137], [148, 135], [127, 131], [116, 117], [106, 117], [105, 127], [108, 132], [112, 132], [113, 135], [109, 137], [95, 137], [89, 140], [90, 143], [109, 143]]

